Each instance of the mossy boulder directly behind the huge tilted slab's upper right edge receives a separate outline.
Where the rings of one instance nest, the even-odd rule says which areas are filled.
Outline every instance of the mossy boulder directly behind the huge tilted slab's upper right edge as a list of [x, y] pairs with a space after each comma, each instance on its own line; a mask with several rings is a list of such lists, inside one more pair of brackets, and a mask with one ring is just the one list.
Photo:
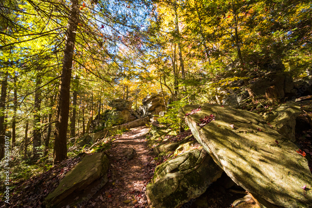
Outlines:
[[290, 141], [295, 142], [296, 118], [300, 113], [300, 105], [293, 101], [288, 101], [261, 115], [272, 125], [274, 130]]

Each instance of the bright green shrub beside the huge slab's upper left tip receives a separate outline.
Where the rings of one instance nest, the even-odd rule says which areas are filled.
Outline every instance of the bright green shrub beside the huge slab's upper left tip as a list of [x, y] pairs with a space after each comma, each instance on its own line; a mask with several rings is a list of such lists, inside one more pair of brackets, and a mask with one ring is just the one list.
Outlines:
[[179, 132], [181, 128], [187, 130], [188, 126], [185, 124], [185, 122], [177, 117], [178, 110], [186, 104], [187, 97], [178, 101], [173, 101], [168, 105], [171, 108], [167, 110], [164, 116], [159, 117], [158, 122], [166, 124], [169, 128], [172, 128], [176, 132]]

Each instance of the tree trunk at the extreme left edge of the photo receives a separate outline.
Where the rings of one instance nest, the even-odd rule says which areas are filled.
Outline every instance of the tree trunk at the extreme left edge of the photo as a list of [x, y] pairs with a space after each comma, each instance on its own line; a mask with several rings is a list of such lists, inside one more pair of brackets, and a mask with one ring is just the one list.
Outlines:
[[1, 82], [1, 97], [0, 97], [0, 160], [4, 157], [4, 139], [5, 139], [5, 130], [4, 129], [4, 114], [5, 114], [5, 99], [7, 97], [7, 76], [8, 72], [4, 73], [2, 82]]

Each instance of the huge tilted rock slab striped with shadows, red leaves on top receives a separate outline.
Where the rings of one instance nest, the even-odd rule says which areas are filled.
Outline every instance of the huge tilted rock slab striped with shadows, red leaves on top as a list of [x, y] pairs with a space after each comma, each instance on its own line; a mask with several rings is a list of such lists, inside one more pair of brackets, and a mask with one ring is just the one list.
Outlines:
[[[294, 143], [246, 110], [203, 104], [201, 111], [185, 117], [198, 107], [186, 105], [178, 117], [185, 119], [197, 141], [236, 184], [268, 204], [312, 206], [312, 175]], [[200, 119], [212, 118], [211, 114], [214, 120], [201, 128]]]

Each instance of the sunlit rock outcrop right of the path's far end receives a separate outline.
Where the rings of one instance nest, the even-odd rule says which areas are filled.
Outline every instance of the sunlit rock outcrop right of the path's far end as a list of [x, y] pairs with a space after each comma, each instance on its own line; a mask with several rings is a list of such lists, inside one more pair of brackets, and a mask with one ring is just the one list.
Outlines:
[[[166, 92], [164, 92], [164, 96], [167, 103], [168, 95]], [[138, 112], [142, 117], [149, 116], [149, 118], [152, 118], [154, 115], [163, 115], [165, 110], [163, 96], [161, 93], [158, 93], [146, 96], [142, 100], [142, 105], [139, 107]]]

